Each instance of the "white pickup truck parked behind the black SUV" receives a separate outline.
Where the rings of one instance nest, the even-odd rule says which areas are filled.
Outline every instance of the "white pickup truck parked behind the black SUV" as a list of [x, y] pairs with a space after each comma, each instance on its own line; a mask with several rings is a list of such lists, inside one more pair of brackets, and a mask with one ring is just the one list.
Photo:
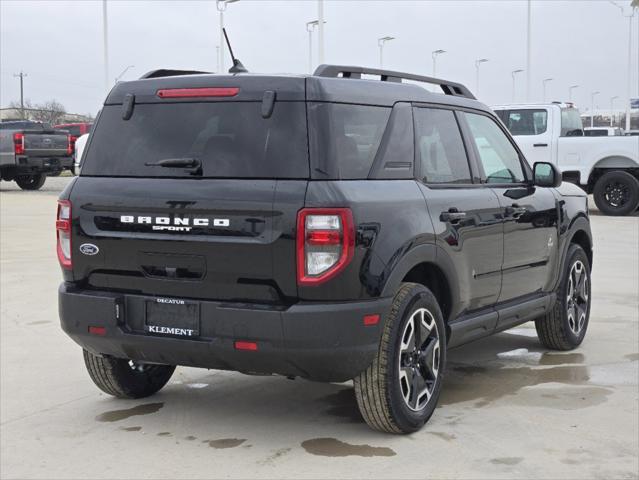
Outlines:
[[557, 165], [564, 181], [593, 194], [602, 213], [628, 215], [639, 207], [639, 137], [586, 137], [570, 103], [492, 108], [531, 165]]

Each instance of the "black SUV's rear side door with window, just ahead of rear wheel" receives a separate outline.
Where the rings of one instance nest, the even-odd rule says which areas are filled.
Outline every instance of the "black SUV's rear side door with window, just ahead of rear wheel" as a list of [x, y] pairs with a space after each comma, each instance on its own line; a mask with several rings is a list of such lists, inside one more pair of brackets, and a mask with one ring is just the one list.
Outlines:
[[471, 170], [456, 114], [416, 107], [418, 183], [436, 243], [459, 276], [462, 311], [494, 304], [501, 288], [503, 225], [497, 196]]

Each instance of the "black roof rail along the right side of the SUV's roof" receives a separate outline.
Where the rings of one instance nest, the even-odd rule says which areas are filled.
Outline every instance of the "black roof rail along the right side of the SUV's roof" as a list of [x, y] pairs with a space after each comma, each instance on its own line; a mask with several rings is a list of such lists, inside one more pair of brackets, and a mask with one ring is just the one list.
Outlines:
[[360, 79], [362, 75], [379, 75], [382, 82], [397, 82], [402, 80], [414, 80], [416, 82], [439, 85], [446, 95], [466, 97], [475, 100], [475, 96], [461, 83], [449, 82], [441, 78], [424, 77], [413, 73], [395, 72], [392, 70], [381, 70], [378, 68], [348, 67], [345, 65], [320, 65], [313, 75], [316, 77], [339, 77]]

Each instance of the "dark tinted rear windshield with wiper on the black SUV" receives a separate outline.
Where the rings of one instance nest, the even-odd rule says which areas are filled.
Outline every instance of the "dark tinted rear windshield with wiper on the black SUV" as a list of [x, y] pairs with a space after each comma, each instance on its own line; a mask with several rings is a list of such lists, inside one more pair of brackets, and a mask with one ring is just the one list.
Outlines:
[[263, 118], [261, 102], [105, 106], [84, 156], [82, 175], [193, 178], [184, 168], [149, 166], [197, 159], [202, 177], [308, 178], [304, 102], [276, 102]]

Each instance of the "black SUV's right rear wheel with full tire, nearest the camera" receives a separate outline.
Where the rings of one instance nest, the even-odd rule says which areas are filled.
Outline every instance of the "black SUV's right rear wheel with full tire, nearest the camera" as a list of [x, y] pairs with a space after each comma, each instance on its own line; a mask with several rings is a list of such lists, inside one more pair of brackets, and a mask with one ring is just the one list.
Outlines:
[[[424, 335], [425, 341], [415, 342]], [[415, 343], [421, 345], [420, 352], [411, 351]], [[446, 329], [435, 296], [423, 285], [403, 283], [393, 299], [375, 359], [353, 379], [366, 423], [387, 433], [419, 430], [435, 410], [445, 365]]]

